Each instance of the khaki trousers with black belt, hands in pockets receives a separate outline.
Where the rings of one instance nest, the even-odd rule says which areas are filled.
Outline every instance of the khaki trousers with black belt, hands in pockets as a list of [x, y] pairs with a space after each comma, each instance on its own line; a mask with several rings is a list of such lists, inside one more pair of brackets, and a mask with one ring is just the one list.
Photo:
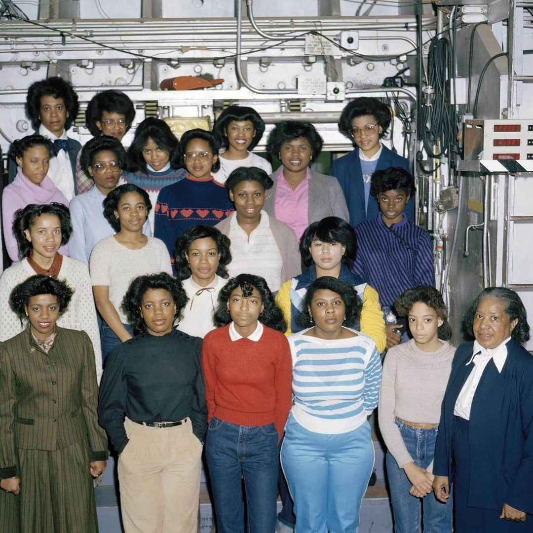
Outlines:
[[126, 533], [196, 533], [202, 445], [185, 421], [159, 428], [125, 419], [130, 441], [118, 481]]

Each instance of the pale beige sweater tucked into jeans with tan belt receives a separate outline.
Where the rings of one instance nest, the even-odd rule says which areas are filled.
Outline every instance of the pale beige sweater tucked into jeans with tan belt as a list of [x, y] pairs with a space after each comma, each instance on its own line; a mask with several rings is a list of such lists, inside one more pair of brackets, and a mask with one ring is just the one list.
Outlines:
[[[439, 423], [440, 406], [455, 348], [445, 341], [436, 352], [417, 348], [414, 339], [393, 346], [383, 362], [378, 421], [387, 449], [400, 467], [413, 461], [394, 418]], [[427, 470], [431, 471], [433, 461]]]

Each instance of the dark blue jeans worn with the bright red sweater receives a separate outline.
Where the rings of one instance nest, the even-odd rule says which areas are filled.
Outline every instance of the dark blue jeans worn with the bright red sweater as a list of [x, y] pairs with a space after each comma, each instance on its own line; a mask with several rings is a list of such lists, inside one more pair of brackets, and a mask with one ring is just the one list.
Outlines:
[[276, 527], [278, 432], [274, 424], [239, 426], [213, 417], [205, 457], [211, 480], [217, 533], [244, 533], [243, 484], [248, 533]]

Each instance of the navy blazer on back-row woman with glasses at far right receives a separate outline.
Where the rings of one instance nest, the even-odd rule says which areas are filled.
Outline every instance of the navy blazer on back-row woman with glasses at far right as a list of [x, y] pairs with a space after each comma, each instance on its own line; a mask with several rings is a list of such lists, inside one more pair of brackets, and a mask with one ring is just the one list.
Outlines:
[[[394, 154], [386, 146], [377, 160], [376, 170], [385, 170], [389, 167], [401, 167], [409, 171], [409, 161], [405, 157]], [[368, 206], [365, 214], [365, 185], [359, 159], [359, 148], [352, 150], [339, 159], [333, 161], [329, 172], [335, 176], [341, 185], [348, 211], [350, 212], [350, 224], [356, 226], [366, 220], [375, 219], [379, 213], [377, 200], [373, 196], [368, 198]], [[410, 198], [404, 211], [409, 222], [415, 222], [415, 199]]]

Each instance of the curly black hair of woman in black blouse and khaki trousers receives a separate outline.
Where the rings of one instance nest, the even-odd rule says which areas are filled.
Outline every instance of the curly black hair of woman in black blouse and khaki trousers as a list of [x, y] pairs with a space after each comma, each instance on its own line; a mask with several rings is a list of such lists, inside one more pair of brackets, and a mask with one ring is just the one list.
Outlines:
[[147, 290], [164, 289], [172, 296], [172, 300], [176, 306], [176, 314], [174, 320], [177, 320], [185, 304], [189, 301], [185, 289], [181, 285], [181, 281], [172, 277], [166, 272], [159, 272], [157, 274], [147, 274], [146, 276], [139, 276], [135, 278], [126, 290], [126, 294], [122, 300], [122, 310], [128, 317], [128, 322], [133, 326], [135, 333], [146, 332], [146, 322], [141, 313], [142, 298]]

